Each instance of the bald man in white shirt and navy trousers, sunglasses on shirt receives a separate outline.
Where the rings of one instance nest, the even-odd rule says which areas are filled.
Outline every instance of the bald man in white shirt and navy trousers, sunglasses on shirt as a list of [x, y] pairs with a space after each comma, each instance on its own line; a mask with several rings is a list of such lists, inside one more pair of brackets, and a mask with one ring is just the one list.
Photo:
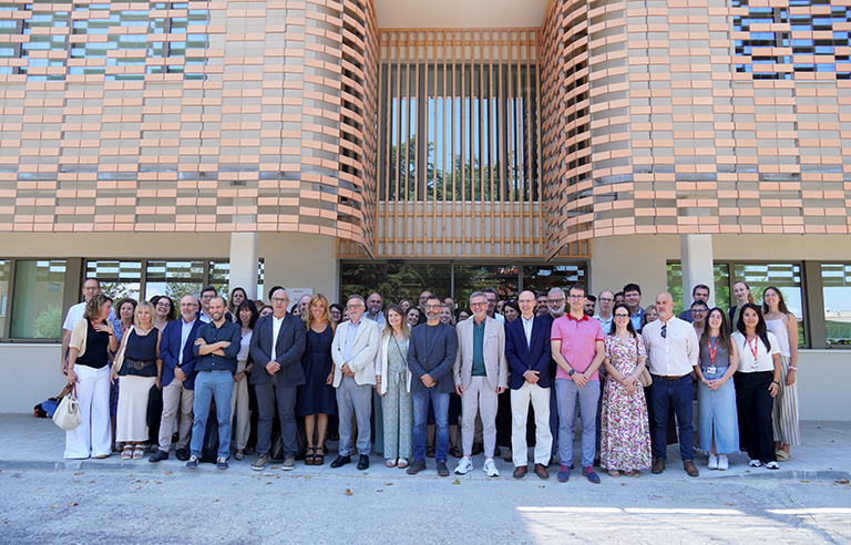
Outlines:
[[665, 471], [667, 460], [668, 407], [674, 405], [679, 423], [679, 455], [683, 469], [689, 476], [699, 473], [695, 466], [695, 433], [691, 425], [691, 371], [697, 366], [699, 347], [695, 328], [674, 316], [674, 298], [670, 294], [656, 297], [659, 319], [652, 321], [642, 331], [647, 348], [647, 367], [653, 376], [647, 408], [650, 414], [650, 440], [653, 442], [653, 473]]

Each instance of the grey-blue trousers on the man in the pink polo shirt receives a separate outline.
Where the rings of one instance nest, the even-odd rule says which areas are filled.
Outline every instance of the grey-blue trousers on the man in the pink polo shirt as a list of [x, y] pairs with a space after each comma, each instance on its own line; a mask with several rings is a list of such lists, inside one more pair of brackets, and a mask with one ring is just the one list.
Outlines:
[[582, 418], [582, 466], [594, 465], [594, 436], [597, 429], [597, 404], [599, 383], [589, 380], [580, 388], [572, 380], [555, 379], [555, 394], [558, 398], [558, 454], [562, 465], [573, 462], [573, 423], [576, 419], [576, 399], [580, 400]]

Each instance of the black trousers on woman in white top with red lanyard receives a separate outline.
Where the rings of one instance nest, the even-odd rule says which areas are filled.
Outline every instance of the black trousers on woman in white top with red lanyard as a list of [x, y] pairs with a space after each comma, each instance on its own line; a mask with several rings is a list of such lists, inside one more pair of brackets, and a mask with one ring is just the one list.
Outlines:
[[762, 463], [777, 462], [775, 435], [771, 430], [771, 409], [775, 398], [768, 391], [773, 372], [736, 373], [736, 405], [739, 422], [745, 424], [745, 444], [748, 456]]

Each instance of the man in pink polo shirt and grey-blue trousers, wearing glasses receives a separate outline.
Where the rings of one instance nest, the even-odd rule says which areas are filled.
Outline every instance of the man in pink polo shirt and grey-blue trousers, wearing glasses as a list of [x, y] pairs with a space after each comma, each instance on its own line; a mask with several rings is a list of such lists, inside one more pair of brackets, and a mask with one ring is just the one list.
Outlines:
[[576, 400], [582, 417], [582, 474], [594, 484], [599, 476], [594, 473], [594, 434], [599, 401], [597, 369], [603, 363], [605, 347], [599, 321], [585, 313], [585, 287], [574, 285], [567, 292], [571, 311], [553, 322], [553, 359], [558, 364], [555, 372], [555, 394], [558, 403], [558, 454], [562, 466], [558, 481], [571, 477], [573, 463], [573, 422]]

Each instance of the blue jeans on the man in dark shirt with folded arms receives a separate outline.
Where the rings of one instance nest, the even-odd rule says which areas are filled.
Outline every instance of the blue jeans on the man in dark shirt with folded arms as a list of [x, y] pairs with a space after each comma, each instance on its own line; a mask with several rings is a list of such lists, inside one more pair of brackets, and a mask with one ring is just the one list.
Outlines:
[[199, 371], [195, 376], [195, 401], [192, 410], [195, 420], [192, 422], [192, 443], [189, 449], [193, 456], [201, 457], [204, 448], [204, 433], [209, 415], [209, 402], [216, 400], [216, 418], [218, 419], [218, 457], [230, 455], [230, 398], [234, 394], [234, 376], [230, 371]]

